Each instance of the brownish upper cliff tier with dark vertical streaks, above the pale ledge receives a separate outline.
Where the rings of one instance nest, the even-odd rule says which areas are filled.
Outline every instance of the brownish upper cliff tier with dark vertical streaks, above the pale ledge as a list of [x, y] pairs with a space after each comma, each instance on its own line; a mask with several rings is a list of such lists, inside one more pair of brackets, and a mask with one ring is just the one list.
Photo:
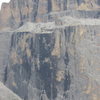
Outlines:
[[[0, 12], [0, 29], [12, 30], [12, 28], [18, 28], [27, 21], [45, 21], [45, 16], [48, 16], [51, 12], [58, 12], [59, 14], [59, 12], [62, 11], [67, 11], [68, 13], [68, 10], [75, 10], [75, 13], [70, 11], [67, 15], [72, 14], [77, 16], [77, 11], [82, 11], [82, 13], [85, 13], [85, 11], [96, 11], [98, 12], [97, 16], [98, 14], [100, 16], [99, 5], [99, 0], [11, 0], [10, 3], [3, 3], [2, 5]], [[87, 16], [90, 15], [88, 12], [86, 14]], [[63, 16], [63, 14], [60, 14], [60, 16]]]

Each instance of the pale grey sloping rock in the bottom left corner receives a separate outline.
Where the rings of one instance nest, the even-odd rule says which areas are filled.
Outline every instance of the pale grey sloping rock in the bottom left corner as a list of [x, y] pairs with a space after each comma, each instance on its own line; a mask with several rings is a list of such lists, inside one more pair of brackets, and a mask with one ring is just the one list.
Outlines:
[[21, 99], [0, 82], [0, 100], [21, 100]]

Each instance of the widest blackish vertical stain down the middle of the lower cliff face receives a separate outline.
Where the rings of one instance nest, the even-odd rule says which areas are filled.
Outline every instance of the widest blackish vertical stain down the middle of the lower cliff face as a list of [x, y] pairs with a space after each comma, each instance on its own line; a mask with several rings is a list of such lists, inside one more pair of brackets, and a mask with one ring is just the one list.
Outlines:
[[42, 81], [43, 88], [46, 92], [47, 97], [51, 100], [57, 95], [57, 91], [54, 84], [54, 66], [51, 62], [51, 50], [52, 50], [52, 35], [44, 34], [39, 35], [39, 59], [40, 59], [40, 69], [38, 73], [40, 75], [40, 80]]

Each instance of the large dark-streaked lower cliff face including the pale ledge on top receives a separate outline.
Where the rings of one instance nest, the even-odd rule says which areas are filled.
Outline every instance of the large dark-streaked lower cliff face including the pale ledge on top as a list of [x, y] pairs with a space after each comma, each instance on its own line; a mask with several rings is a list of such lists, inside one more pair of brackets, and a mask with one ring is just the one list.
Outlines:
[[99, 28], [99, 19], [62, 17], [15, 30], [6, 86], [24, 100], [99, 100]]

